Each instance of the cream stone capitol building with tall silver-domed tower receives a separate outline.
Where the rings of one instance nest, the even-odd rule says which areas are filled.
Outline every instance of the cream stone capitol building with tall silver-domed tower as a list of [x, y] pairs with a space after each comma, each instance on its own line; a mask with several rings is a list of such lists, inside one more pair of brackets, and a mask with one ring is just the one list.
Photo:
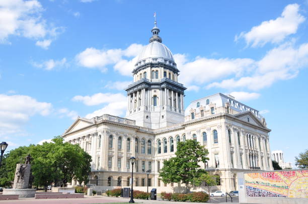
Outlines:
[[[219, 175], [212, 190], [238, 190], [237, 172], [273, 170], [271, 130], [259, 111], [222, 93], [191, 101], [184, 110], [186, 87], [178, 82], [180, 71], [156, 23], [151, 32], [149, 44], [132, 67], [133, 83], [125, 89], [126, 118], [108, 114], [78, 118], [62, 135], [92, 156], [92, 188], [130, 186], [129, 158], [135, 157], [134, 189], [146, 191], [148, 182], [158, 192], [180, 191], [185, 184], [163, 183], [159, 170], [164, 160], [175, 156], [177, 143], [188, 139], [208, 149], [209, 161], [200, 165]], [[148, 180], [146, 171], [150, 171]], [[205, 190], [205, 186], [191, 190]]]

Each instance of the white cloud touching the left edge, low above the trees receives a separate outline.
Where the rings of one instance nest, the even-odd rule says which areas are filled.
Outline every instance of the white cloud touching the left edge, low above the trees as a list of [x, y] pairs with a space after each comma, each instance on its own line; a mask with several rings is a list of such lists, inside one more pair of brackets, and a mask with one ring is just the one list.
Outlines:
[[20, 132], [30, 117], [47, 116], [51, 111], [50, 103], [39, 102], [27, 95], [0, 94], [0, 136]]

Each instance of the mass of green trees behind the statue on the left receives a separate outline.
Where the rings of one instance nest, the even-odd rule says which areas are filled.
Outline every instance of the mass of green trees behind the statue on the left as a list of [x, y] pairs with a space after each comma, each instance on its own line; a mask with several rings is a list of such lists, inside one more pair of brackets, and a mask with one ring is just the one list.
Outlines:
[[[80, 183], [88, 182], [91, 172], [91, 156], [79, 145], [63, 141], [60, 136], [52, 139], [52, 143], [30, 145], [11, 150], [5, 155], [5, 170], [0, 171], [0, 185], [10, 185], [14, 180], [16, 164], [24, 163], [27, 154], [31, 154], [31, 169], [34, 176], [33, 185], [44, 186], [58, 183], [65, 185], [72, 179]], [[6, 178], [5, 178], [6, 176]]]

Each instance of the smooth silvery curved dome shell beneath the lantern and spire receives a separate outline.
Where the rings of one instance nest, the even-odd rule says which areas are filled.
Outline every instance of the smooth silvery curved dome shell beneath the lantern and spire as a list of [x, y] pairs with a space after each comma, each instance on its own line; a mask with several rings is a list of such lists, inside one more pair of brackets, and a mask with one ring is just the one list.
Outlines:
[[160, 43], [158, 41], [153, 41], [149, 43], [147, 46], [145, 46], [141, 51], [141, 53], [139, 54], [137, 62], [143, 60], [148, 61], [148, 59], [151, 58], [166, 59], [174, 62], [173, 55], [169, 50], [169, 48], [163, 43]]

